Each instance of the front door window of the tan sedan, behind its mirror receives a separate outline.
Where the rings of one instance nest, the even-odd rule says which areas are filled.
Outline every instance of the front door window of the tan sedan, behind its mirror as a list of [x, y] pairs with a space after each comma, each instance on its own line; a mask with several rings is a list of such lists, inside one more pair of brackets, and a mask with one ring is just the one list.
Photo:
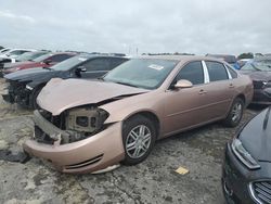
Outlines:
[[190, 80], [193, 85], [204, 84], [204, 71], [202, 62], [186, 64], [177, 75], [176, 82], [180, 79]]

